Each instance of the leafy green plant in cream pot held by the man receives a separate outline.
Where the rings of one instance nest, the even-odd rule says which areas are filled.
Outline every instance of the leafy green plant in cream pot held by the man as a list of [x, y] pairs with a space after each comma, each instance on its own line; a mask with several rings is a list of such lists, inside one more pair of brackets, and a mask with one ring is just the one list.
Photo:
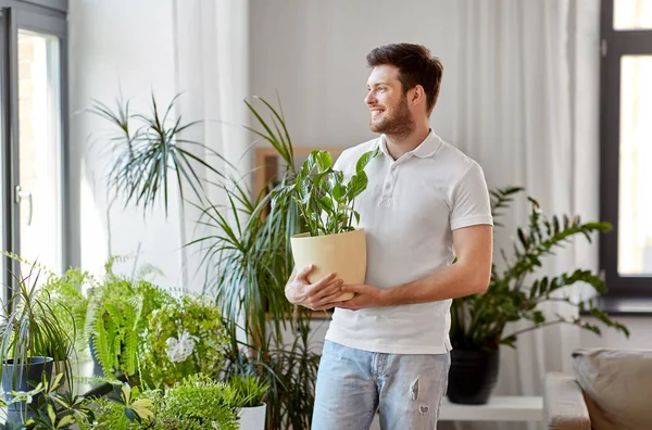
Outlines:
[[[311, 281], [335, 271], [346, 283], [364, 282], [366, 239], [364, 229], [355, 228], [360, 214], [354, 201], [367, 186], [364, 168], [378, 153], [378, 150], [364, 153], [358, 160], [355, 173], [344, 181], [344, 174], [333, 169], [328, 151], [312, 151], [294, 182], [274, 191], [274, 201], [286, 194], [297, 202], [308, 232], [291, 238], [292, 255], [298, 268], [315, 265], [309, 276]], [[352, 296], [344, 293], [338, 300]]]

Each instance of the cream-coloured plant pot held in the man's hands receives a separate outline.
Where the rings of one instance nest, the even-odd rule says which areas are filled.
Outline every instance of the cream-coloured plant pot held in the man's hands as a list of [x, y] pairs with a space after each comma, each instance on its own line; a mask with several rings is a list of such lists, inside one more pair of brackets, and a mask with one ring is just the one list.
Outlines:
[[[302, 233], [291, 237], [290, 242], [297, 270], [310, 264], [315, 265], [308, 277], [311, 283], [331, 271], [335, 271], [344, 283], [364, 283], [366, 277], [364, 229], [316, 237]], [[343, 293], [337, 301], [343, 302], [352, 296], [352, 293]]]

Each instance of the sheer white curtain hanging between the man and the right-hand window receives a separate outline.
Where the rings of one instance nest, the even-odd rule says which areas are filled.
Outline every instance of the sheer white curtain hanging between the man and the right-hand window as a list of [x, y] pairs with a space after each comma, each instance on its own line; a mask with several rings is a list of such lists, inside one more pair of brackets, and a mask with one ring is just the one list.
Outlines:
[[[484, 167], [490, 187], [523, 186], [546, 214], [598, 217], [599, 0], [460, 0], [453, 141]], [[496, 229], [507, 254], [525, 199]], [[498, 254], [497, 254], [498, 255]], [[572, 243], [542, 274], [597, 267], [597, 246]], [[497, 262], [500, 266], [500, 262]], [[573, 292], [578, 295], [578, 291]], [[574, 315], [564, 305], [549, 315]], [[527, 327], [518, 324], [510, 331]], [[501, 350], [494, 394], [542, 395], [547, 371], [570, 371], [578, 329], [552, 326]], [[440, 428], [542, 428], [525, 423], [446, 423]]]

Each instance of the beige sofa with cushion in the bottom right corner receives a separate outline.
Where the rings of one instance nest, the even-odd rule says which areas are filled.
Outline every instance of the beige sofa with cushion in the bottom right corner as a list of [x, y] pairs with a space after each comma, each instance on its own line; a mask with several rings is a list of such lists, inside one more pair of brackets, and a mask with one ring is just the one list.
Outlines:
[[652, 350], [577, 350], [573, 375], [546, 375], [554, 430], [652, 430]]

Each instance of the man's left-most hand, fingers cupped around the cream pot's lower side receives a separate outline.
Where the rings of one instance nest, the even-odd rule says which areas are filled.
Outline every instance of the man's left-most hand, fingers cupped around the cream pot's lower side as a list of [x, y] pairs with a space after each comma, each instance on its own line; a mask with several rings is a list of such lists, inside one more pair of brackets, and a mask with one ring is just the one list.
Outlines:
[[341, 279], [331, 273], [315, 283], [310, 283], [308, 275], [313, 271], [311, 264], [299, 270], [297, 276], [286, 286], [286, 298], [290, 303], [300, 304], [313, 311], [325, 311], [340, 304], [337, 299], [341, 295]]

